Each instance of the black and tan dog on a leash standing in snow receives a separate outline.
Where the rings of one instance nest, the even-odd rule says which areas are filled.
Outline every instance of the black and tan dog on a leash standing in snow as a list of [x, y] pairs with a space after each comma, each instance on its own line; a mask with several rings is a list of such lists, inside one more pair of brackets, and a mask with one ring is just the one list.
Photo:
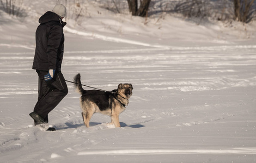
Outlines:
[[95, 112], [111, 116], [111, 123], [115, 127], [120, 127], [119, 114], [125, 110], [132, 96], [133, 87], [131, 84], [119, 84], [118, 89], [109, 91], [84, 90], [81, 84], [81, 75], [78, 73], [74, 77], [76, 91], [81, 94], [80, 105], [82, 117], [86, 127], [90, 127], [89, 122]]

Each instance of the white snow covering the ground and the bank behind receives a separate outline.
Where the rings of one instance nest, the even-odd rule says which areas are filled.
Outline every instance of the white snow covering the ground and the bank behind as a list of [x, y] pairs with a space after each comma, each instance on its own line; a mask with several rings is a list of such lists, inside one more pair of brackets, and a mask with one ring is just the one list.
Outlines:
[[0, 11], [0, 162], [256, 161], [255, 22], [197, 24], [166, 14], [145, 23], [84, 3], [90, 16], [66, 20], [62, 71], [103, 90], [131, 83], [121, 128], [101, 114], [86, 128], [71, 83], [49, 114], [57, 131], [33, 126], [35, 30], [56, 3], [24, 1], [25, 20]]

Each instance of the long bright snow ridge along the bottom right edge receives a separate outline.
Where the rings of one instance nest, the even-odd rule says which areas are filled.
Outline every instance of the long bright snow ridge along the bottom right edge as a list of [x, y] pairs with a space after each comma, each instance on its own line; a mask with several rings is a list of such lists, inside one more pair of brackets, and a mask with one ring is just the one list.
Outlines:
[[121, 149], [113, 151], [79, 152], [77, 155], [132, 155], [132, 154], [256, 154], [256, 148], [230, 149]]

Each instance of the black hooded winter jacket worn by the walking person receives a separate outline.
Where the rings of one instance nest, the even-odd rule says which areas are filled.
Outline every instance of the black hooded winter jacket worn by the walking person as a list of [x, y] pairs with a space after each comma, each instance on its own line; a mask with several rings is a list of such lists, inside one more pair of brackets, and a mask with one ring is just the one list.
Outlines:
[[54, 12], [47, 11], [39, 18], [39, 23], [35, 32], [36, 47], [32, 68], [60, 72], [64, 49], [63, 27], [66, 22]]

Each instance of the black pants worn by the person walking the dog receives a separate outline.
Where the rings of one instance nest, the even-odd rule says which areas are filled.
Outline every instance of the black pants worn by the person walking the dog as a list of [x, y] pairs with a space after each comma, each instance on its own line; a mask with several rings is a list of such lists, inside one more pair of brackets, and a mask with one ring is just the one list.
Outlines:
[[44, 76], [47, 71], [38, 73], [38, 102], [34, 111], [48, 122], [48, 113], [51, 112], [62, 99], [68, 94], [68, 86], [61, 72], [56, 72], [52, 80], [46, 82]]

